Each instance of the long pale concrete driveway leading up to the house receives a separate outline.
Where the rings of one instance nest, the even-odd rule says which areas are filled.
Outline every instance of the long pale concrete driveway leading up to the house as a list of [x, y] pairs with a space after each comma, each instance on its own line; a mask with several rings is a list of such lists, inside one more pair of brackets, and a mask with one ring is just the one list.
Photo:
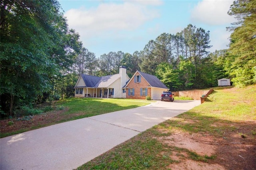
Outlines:
[[1, 138], [0, 169], [72, 170], [198, 105], [200, 101], [157, 101]]

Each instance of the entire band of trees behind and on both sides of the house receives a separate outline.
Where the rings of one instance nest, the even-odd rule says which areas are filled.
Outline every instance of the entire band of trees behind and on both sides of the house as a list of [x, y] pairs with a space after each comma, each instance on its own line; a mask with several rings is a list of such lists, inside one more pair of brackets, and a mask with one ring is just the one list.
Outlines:
[[156, 75], [170, 90], [217, 86], [230, 78], [237, 86], [256, 83], [256, 4], [236, 0], [230, 48], [209, 53], [210, 32], [189, 24], [176, 34], [163, 33], [141, 51], [109, 52], [99, 58], [83, 47], [69, 29], [57, 0], [0, 2], [1, 117], [22, 107], [74, 95], [80, 74], [116, 74], [119, 66], [131, 77], [136, 70]]

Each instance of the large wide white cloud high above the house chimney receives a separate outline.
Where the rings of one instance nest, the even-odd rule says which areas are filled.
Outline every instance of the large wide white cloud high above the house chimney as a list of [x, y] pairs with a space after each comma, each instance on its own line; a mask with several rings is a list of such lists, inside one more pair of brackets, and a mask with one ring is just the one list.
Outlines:
[[148, 20], [159, 17], [158, 11], [138, 3], [103, 3], [97, 8], [68, 10], [64, 16], [69, 28], [81, 37], [113, 34], [117, 31], [135, 30]]

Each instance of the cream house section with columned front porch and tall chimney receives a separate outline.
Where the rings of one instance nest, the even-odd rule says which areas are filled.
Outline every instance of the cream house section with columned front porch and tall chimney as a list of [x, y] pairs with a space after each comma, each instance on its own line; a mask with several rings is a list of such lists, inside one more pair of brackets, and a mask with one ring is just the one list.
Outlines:
[[75, 97], [126, 97], [122, 87], [130, 78], [126, 74], [126, 67], [119, 67], [119, 74], [97, 77], [81, 74], [74, 87]]

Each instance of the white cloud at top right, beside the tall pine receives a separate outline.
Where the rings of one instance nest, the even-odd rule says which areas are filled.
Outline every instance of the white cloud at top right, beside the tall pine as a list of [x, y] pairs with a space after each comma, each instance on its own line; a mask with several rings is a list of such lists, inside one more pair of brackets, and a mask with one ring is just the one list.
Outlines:
[[209, 25], [231, 24], [236, 21], [227, 14], [232, 3], [233, 0], [202, 0], [192, 10], [191, 20]]

